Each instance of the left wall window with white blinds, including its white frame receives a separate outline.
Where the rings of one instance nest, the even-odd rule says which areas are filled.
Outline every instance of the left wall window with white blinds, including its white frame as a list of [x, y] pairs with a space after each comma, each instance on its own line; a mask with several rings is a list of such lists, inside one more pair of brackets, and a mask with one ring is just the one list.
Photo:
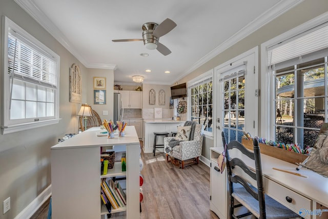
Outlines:
[[4, 19], [3, 133], [53, 124], [59, 114], [59, 56], [10, 19]]

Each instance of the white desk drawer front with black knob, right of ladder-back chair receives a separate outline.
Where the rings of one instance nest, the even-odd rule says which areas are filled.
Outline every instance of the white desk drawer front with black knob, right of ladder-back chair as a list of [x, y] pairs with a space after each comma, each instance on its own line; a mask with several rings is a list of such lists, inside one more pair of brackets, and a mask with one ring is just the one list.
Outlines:
[[[265, 193], [270, 197], [274, 198], [276, 201], [280, 202], [282, 205], [288, 207], [296, 213], [299, 213], [300, 209], [312, 210], [312, 201], [308, 198], [269, 180], [266, 177], [263, 177], [265, 185]], [[286, 200], [286, 197], [292, 198], [290, 202]], [[303, 216], [304, 218], [310, 218], [310, 215], [307, 214]]]

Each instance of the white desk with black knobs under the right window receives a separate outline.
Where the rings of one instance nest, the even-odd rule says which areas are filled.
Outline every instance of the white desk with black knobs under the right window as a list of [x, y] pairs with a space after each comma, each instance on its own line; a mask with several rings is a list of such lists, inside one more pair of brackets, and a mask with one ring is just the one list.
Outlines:
[[[217, 165], [217, 157], [221, 152], [221, 147], [211, 148], [212, 168], [213, 166]], [[232, 153], [230, 152], [230, 155], [232, 157], [242, 157], [242, 160], [245, 162], [245, 164], [247, 164], [250, 168], [255, 168], [254, 161], [250, 160], [250, 158], [247, 156], [243, 154], [234, 154], [234, 151], [232, 151]], [[304, 218], [328, 218], [328, 212], [323, 212], [321, 217], [310, 215], [310, 212], [304, 212], [305, 210], [313, 211], [316, 209], [328, 209], [328, 178], [325, 178], [306, 168], [301, 168], [299, 171], [296, 171], [296, 165], [278, 160], [277, 158], [265, 154], [261, 154], [261, 163], [264, 176], [263, 183], [265, 193], [298, 214], [300, 214], [301, 210], [301, 216]], [[308, 178], [274, 170], [272, 169], [273, 167], [297, 172], [308, 176]], [[216, 204], [211, 201], [211, 210], [214, 212], [219, 211], [219, 214], [226, 215], [226, 218], [229, 218], [229, 188], [226, 182], [226, 172], [227, 171], [225, 170], [223, 174], [215, 173], [211, 169], [211, 195], [216, 195], [214, 188], [212, 188], [215, 186], [212, 185], [212, 178], [213, 181], [215, 181], [217, 177], [220, 177], [220, 180], [224, 181], [220, 183], [221, 187], [225, 187], [220, 189], [218, 193], [220, 193], [220, 195], [224, 195], [224, 200], [226, 200], [226, 203], [224, 203], [223, 207], [216, 206]], [[286, 196], [289, 196], [293, 199], [292, 203], [286, 201]], [[221, 208], [221, 210], [218, 208]]]

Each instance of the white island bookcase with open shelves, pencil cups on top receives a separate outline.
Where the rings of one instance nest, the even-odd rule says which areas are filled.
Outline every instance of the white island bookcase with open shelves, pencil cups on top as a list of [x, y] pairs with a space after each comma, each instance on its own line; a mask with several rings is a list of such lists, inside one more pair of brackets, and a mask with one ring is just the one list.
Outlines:
[[[100, 182], [114, 176], [126, 177], [127, 205], [111, 213], [126, 211], [127, 218], [139, 218], [140, 143], [135, 128], [127, 126], [125, 137], [115, 138], [97, 137], [101, 131], [94, 127], [51, 147], [53, 218], [103, 218], [108, 211], [101, 203]], [[116, 162], [100, 175], [100, 148], [116, 146], [126, 147], [127, 171]]]

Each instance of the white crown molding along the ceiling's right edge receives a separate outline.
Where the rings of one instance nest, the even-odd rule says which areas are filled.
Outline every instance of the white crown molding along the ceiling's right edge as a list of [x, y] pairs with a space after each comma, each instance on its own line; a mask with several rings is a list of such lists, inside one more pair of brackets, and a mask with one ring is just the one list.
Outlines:
[[[224, 50], [230, 48], [237, 42], [241, 41], [241, 39], [247, 37], [251, 33], [255, 32], [256, 30], [260, 29], [264, 25], [268, 24], [269, 22], [273, 21], [275, 18], [279, 17], [281, 14], [285, 13], [286, 11], [290, 10], [291, 8], [295, 7], [296, 5], [300, 4], [304, 0], [292, 0], [292, 1], [279, 1], [273, 7], [268, 9], [267, 11], [263, 12], [260, 16], [254, 19], [253, 22], [249, 23], [242, 29], [240, 29], [237, 33], [232, 35], [227, 41], [224, 41], [221, 45], [213, 49], [207, 55], [203, 56], [199, 61], [197, 61], [193, 66], [189, 69], [184, 71], [175, 81], [185, 77], [186, 75], [190, 74], [200, 66], [204, 65], [212, 58], [223, 52]], [[174, 83], [174, 82], [173, 82]]]

